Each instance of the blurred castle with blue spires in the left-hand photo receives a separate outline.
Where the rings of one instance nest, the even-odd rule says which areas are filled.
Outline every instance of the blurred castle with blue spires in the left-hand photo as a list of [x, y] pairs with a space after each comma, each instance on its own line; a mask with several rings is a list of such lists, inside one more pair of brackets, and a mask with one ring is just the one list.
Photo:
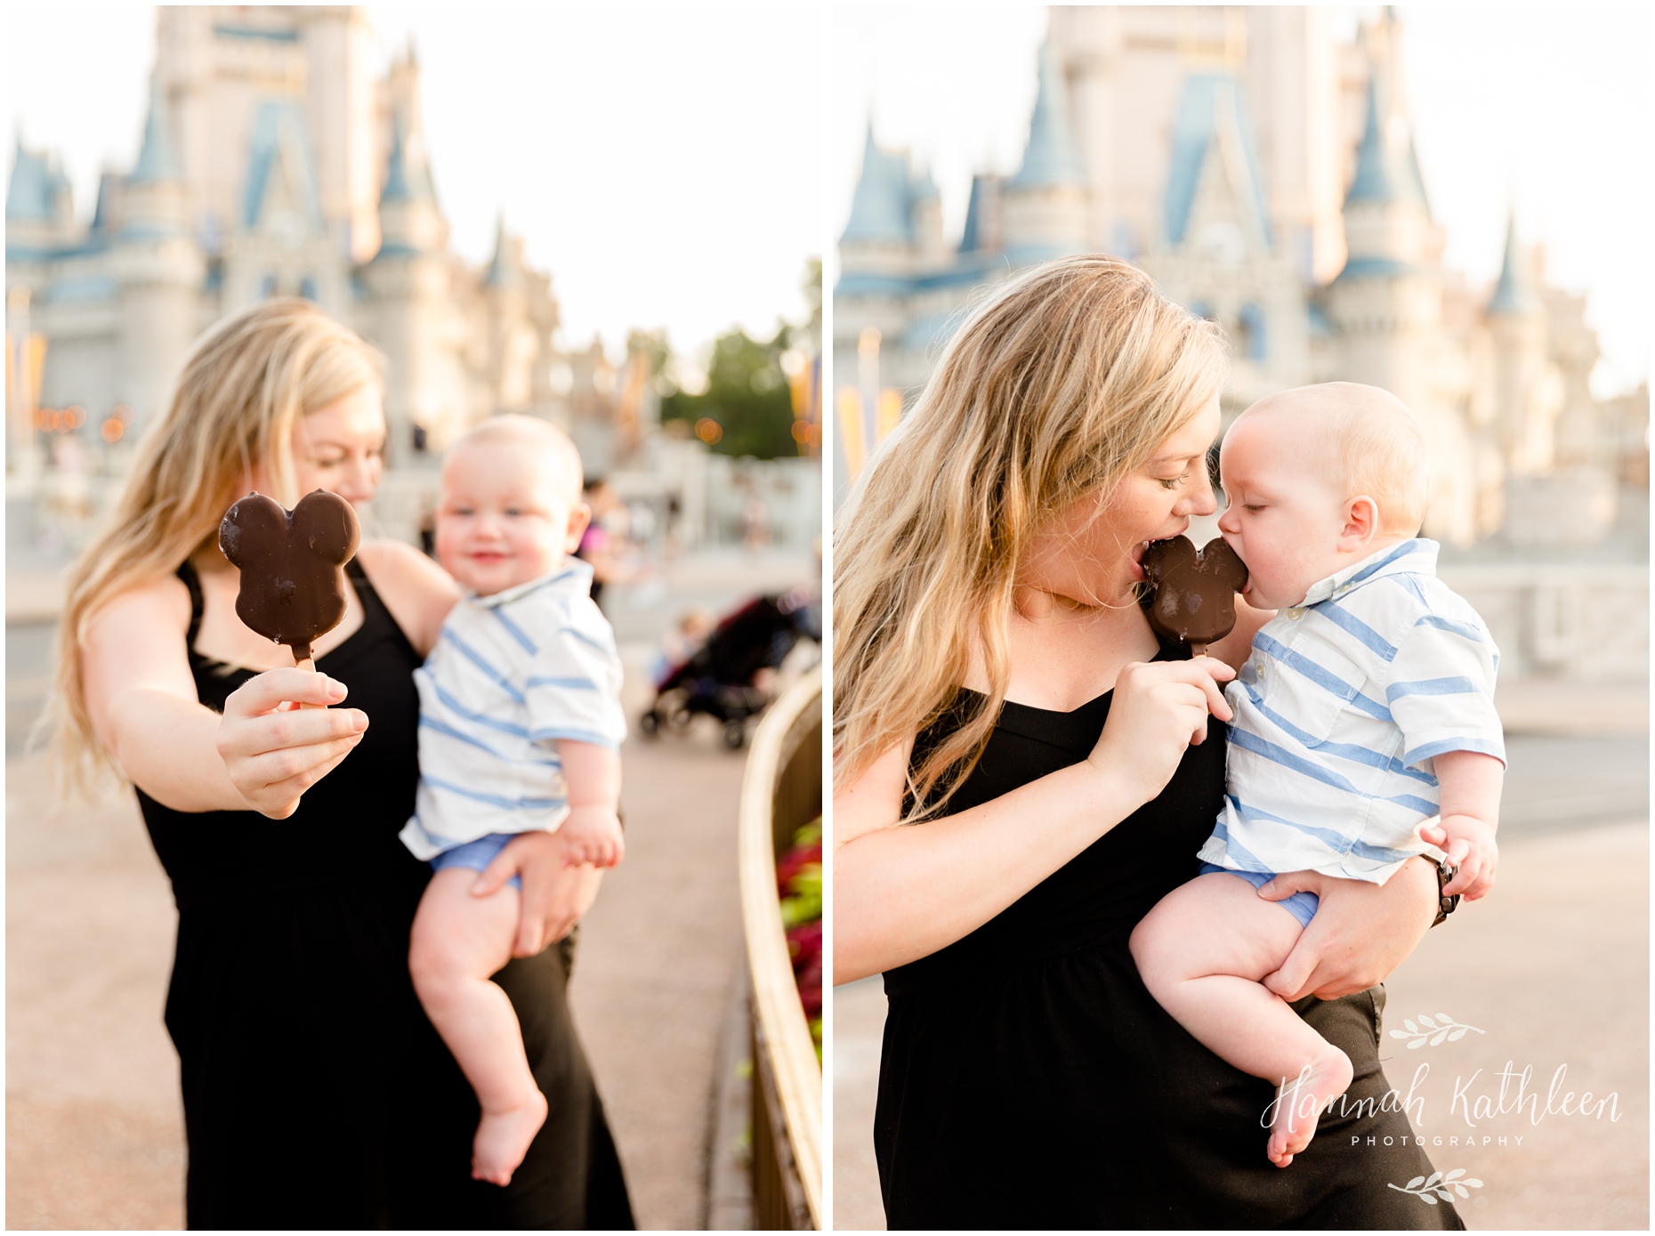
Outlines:
[[164, 409], [190, 341], [268, 296], [314, 299], [386, 354], [392, 468], [496, 410], [554, 417], [609, 453], [629, 386], [645, 384], [597, 343], [559, 356], [551, 280], [503, 220], [487, 266], [449, 248], [412, 50], [376, 76], [356, 7], [166, 7], [157, 33], [137, 162], [103, 174], [89, 227], [56, 160], [18, 137], [13, 478], [43, 467], [46, 442], [61, 465], [53, 429], [89, 422], [118, 455]]

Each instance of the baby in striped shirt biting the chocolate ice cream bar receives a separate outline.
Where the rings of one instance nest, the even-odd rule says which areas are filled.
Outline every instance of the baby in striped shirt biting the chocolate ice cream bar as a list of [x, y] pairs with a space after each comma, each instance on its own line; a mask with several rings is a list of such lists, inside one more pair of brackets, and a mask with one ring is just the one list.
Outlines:
[[1132, 956], [1190, 1034], [1278, 1084], [1266, 1153], [1286, 1167], [1352, 1067], [1261, 981], [1317, 898], [1254, 890], [1294, 870], [1380, 885], [1446, 850], [1445, 892], [1486, 893], [1499, 652], [1437, 579], [1437, 543], [1415, 538], [1425, 442], [1397, 397], [1331, 382], [1263, 399], [1231, 425], [1220, 468], [1218, 529], [1248, 566], [1246, 599], [1278, 614], [1226, 690], [1225, 807], [1202, 874], [1137, 925]]

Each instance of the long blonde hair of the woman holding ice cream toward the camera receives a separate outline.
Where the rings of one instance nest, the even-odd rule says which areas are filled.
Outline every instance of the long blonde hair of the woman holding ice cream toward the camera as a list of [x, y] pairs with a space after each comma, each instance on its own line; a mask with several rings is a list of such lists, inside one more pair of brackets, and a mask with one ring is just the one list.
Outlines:
[[88, 789], [119, 773], [86, 713], [81, 645], [98, 611], [179, 569], [270, 463], [271, 496], [293, 506], [293, 425], [381, 382], [381, 357], [356, 331], [303, 299], [225, 318], [195, 341], [172, 404], [137, 443], [108, 523], [70, 568], [56, 682], [41, 726], [63, 783]]

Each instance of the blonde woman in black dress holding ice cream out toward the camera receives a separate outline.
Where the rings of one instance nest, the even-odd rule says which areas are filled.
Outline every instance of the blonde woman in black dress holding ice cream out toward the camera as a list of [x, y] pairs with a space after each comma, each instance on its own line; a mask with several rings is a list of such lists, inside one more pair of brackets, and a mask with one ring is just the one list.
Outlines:
[[[70, 577], [55, 748], [118, 773], [179, 905], [166, 1021], [179, 1049], [192, 1228], [631, 1226], [626, 1185], [564, 1001], [564, 937], [597, 874], [525, 834], [478, 880], [523, 880], [513, 998], [551, 1117], [510, 1188], [470, 1178], [477, 1100], [414, 996], [409, 928], [430, 869], [414, 806], [414, 668], [453, 582], [364, 541], [344, 620], [291, 667], [235, 614], [228, 505], [314, 488], [374, 496], [376, 354], [306, 301], [197, 341], [139, 445], [108, 529]], [[333, 705], [298, 710], [300, 703]]]

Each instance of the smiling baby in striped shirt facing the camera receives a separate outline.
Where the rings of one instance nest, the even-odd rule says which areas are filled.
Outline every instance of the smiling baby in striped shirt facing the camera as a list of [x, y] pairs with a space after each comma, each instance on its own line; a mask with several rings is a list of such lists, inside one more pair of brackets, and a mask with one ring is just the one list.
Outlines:
[[520, 832], [561, 831], [564, 860], [621, 860], [626, 736], [614, 632], [569, 558], [586, 529], [581, 457], [559, 430], [492, 417], [444, 460], [437, 559], [470, 596], [419, 685], [419, 791], [402, 842], [435, 874], [414, 917], [420, 1004], [477, 1090], [472, 1175], [505, 1185], [546, 1120], [523, 1032], [490, 975], [511, 960], [521, 880], [473, 897]]

